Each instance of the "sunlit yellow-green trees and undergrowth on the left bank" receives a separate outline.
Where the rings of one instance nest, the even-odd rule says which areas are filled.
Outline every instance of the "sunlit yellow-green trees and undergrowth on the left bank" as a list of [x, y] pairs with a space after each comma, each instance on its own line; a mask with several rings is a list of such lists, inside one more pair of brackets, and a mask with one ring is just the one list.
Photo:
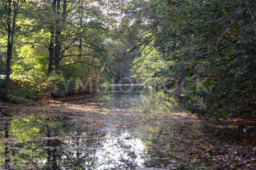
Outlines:
[[[106, 71], [112, 68], [108, 59], [111, 48], [107, 49], [102, 42], [111, 36], [111, 27], [114, 28], [116, 23], [114, 18], [119, 15], [115, 9], [120, 8], [122, 2], [116, 1], [112, 6], [112, 1], [108, 0], [57, 1], [56, 4], [51, 0], [22, 1], [21, 8], [13, 11], [17, 12], [17, 17], [11, 56], [10, 101], [64, 96], [75, 89], [75, 82], [71, 81], [67, 91], [64, 81], [71, 77], [86, 80], [102, 74], [106, 77]], [[11, 2], [15, 4], [16, 1]], [[0, 52], [5, 54], [0, 56], [0, 73], [3, 74], [8, 44], [6, 4], [0, 2], [0, 14], [3, 14], [0, 19], [3, 23], [0, 26]], [[54, 72], [48, 70], [50, 48], [53, 48], [52, 57], [56, 60], [52, 65]], [[55, 85], [57, 92], [53, 92]], [[0, 87], [1, 97], [4, 86]]]

